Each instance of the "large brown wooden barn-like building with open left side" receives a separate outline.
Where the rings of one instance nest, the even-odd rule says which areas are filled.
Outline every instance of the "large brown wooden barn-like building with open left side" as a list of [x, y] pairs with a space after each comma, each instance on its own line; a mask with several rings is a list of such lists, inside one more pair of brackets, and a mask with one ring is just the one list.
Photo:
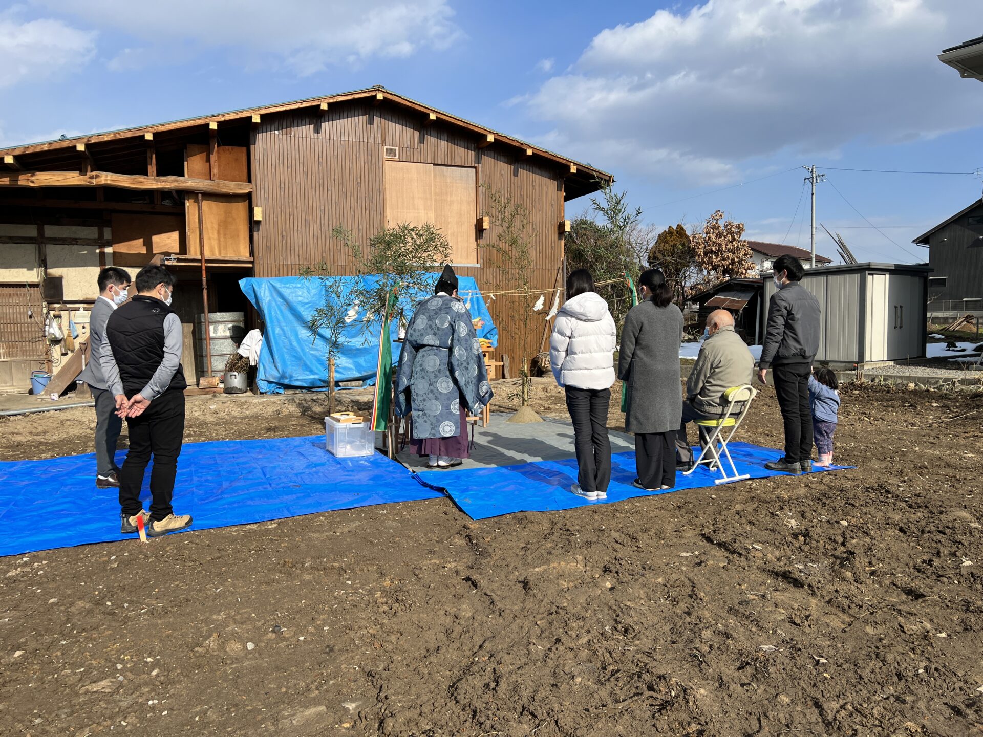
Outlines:
[[[320, 262], [344, 273], [349, 255], [331, 236], [339, 225], [367, 244], [386, 226], [434, 223], [460, 273], [500, 285], [482, 249], [498, 237], [489, 217], [498, 193], [528, 209], [534, 283], [549, 289], [564, 202], [610, 181], [382, 87], [0, 149], [0, 391], [69, 363], [71, 346], [45, 338], [45, 317], [59, 315], [66, 332], [71, 319], [81, 345], [102, 266], [136, 273], [162, 259], [197, 341], [205, 293], [207, 312], [248, 312], [244, 276]], [[532, 355], [539, 346], [512, 337], [510, 302], [490, 304], [499, 351]]]

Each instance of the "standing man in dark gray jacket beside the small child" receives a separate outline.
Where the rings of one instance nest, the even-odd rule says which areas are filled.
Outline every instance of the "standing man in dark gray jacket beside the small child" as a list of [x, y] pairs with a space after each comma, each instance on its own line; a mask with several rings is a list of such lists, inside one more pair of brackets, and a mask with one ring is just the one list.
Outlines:
[[812, 471], [809, 376], [819, 351], [820, 308], [799, 283], [804, 273], [797, 258], [782, 255], [776, 259], [773, 278], [778, 291], [768, 305], [765, 344], [758, 362], [758, 380], [763, 384], [768, 383], [768, 369], [773, 369], [785, 428], [785, 455], [766, 463], [765, 468], [792, 474]]

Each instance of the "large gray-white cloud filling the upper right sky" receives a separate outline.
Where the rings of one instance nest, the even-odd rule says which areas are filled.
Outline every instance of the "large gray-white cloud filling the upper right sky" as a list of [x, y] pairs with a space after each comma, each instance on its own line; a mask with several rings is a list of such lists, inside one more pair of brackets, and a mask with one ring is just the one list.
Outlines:
[[528, 105], [603, 168], [725, 183], [755, 157], [979, 125], [983, 93], [936, 55], [981, 25], [978, 0], [709, 0], [601, 31]]

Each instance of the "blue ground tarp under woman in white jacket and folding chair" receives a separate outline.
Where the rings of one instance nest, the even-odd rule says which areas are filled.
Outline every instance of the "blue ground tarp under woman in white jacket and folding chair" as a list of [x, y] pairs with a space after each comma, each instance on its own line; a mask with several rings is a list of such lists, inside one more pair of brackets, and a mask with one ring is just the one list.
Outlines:
[[[773, 476], [789, 476], [779, 471], [769, 471], [765, 464], [781, 456], [781, 451], [763, 448], [751, 443], [728, 443], [739, 475], [748, 474], [752, 479]], [[699, 448], [696, 449], [699, 453]], [[847, 466], [831, 466], [816, 471], [839, 471]], [[815, 472], [814, 472], [815, 473]], [[700, 466], [690, 476], [676, 474], [673, 488], [645, 491], [631, 485], [638, 473], [634, 453], [615, 453], [611, 456], [611, 483], [607, 488], [607, 500], [588, 501], [570, 492], [577, 482], [577, 459], [562, 461], [536, 461], [517, 466], [499, 466], [486, 469], [459, 471], [425, 471], [420, 478], [424, 482], [442, 486], [447, 494], [473, 520], [484, 520], [513, 512], [548, 512], [572, 509], [590, 504], [609, 504], [636, 496], [653, 496], [687, 488], [714, 486], [720, 473]]]

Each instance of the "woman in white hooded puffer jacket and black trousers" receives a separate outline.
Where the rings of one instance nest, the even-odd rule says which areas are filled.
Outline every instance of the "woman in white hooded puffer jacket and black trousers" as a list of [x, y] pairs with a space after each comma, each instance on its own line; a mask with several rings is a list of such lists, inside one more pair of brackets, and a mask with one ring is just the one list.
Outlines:
[[594, 291], [585, 268], [566, 278], [566, 303], [556, 315], [549, 339], [549, 365], [556, 383], [566, 390], [566, 408], [573, 422], [578, 483], [570, 489], [595, 501], [607, 499], [611, 479], [611, 445], [607, 408], [614, 383], [617, 330], [607, 302]]

